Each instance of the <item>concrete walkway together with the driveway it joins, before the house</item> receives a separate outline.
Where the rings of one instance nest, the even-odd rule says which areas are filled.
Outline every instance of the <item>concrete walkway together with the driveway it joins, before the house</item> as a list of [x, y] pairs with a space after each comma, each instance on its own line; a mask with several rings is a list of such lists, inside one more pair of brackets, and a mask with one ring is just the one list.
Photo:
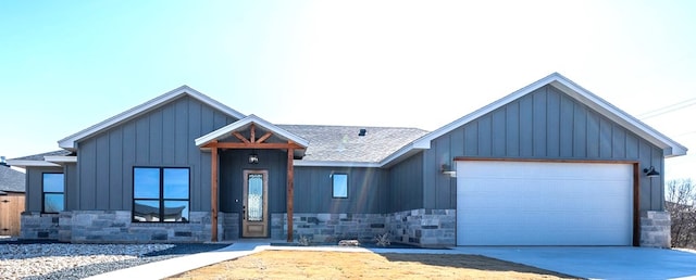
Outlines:
[[170, 258], [98, 275], [87, 279], [162, 279], [264, 250], [373, 252], [377, 254], [468, 254], [483, 255], [587, 279], [696, 279], [696, 253], [678, 250], [609, 246], [453, 247], [451, 250], [423, 250], [271, 246], [270, 244], [271, 242], [268, 240], [244, 240], [221, 250]]

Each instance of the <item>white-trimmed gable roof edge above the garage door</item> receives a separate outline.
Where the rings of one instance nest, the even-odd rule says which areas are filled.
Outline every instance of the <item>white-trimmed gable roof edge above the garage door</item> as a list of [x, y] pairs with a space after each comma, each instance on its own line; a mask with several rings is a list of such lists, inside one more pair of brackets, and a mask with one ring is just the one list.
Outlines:
[[659, 131], [655, 130], [654, 128], [651, 128], [650, 126], [646, 125], [645, 123], [638, 120], [637, 118], [629, 115], [627, 113], [623, 112], [622, 110], [618, 109], [617, 106], [612, 105], [611, 103], [607, 102], [606, 100], [599, 98], [598, 96], [592, 93], [589, 90], [584, 89], [583, 87], [579, 86], [577, 84], [573, 82], [572, 80], [566, 78], [564, 76], [562, 76], [561, 74], [558, 73], [552, 73], [535, 82], [532, 82], [531, 85], [519, 89], [518, 91], [514, 91], [486, 106], [483, 106], [452, 123], [449, 123], [448, 125], [445, 125], [436, 130], [434, 130], [433, 132], [430, 132], [425, 136], [423, 136], [422, 138], [409, 143], [408, 145], [406, 145], [405, 148], [402, 148], [401, 150], [399, 150], [398, 152], [389, 155], [387, 158], [385, 158], [384, 165], [388, 165], [390, 163], [393, 163], [394, 161], [396, 161], [397, 158], [401, 158], [402, 156], [407, 155], [407, 154], [412, 154], [414, 151], [419, 151], [419, 150], [424, 150], [424, 149], [430, 149], [431, 148], [431, 141], [435, 140], [436, 138], [446, 135], [450, 131], [452, 131], [453, 129], [461, 127], [465, 124], [468, 124], [469, 122], [472, 122], [474, 119], [477, 119], [478, 117], [486, 115], [499, 107], [505, 106], [506, 104], [518, 100], [519, 98], [526, 96], [529, 93], [532, 93], [533, 91], [545, 87], [546, 85], [550, 85], [555, 88], [557, 88], [558, 90], [560, 90], [561, 92], [568, 94], [569, 97], [573, 98], [574, 100], [577, 100], [579, 102], [581, 102], [582, 104], [585, 104], [586, 106], [595, 110], [596, 112], [598, 112], [599, 114], [601, 114], [602, 116], [609, 118], [610, 120], [621, 125], [622, 127], [624, 127], [625, 129], [634, 132], [635, 135], [646, 139], [648, 142], [652, 143], [656, 147], [659, 147], [661, 149], [663, 149], [664, 157], [673, 157], [673, 156], [680, 156], [680, 155], [685, 155], [686, 151], [688, 149], [686, 149], [686, 147], [678, 143], [676, 141], [670, 139], [669, 137], [660, 133]]

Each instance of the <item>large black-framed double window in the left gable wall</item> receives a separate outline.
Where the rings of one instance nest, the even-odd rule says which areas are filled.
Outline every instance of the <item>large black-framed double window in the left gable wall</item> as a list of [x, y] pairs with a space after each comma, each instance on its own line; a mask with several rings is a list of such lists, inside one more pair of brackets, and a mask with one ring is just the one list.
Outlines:
[[188, 221], [188, 168], [133, 169], [134, 221]]

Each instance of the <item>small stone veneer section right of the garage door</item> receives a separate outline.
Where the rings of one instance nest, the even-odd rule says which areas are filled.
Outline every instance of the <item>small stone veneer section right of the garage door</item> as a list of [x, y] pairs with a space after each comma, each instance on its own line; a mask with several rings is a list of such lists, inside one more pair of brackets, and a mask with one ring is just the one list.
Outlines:
[[642, 247], [671, 247], [671, 234], [669, 212], [646, 211], [641, 213]]

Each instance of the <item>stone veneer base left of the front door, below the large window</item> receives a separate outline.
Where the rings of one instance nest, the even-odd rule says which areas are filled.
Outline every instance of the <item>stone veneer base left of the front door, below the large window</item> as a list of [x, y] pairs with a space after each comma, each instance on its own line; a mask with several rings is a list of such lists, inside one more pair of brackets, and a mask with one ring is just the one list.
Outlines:
[[[238, 224], [235, 217], [238, 215], [220, 213], [219, 240], [225, 236], [225, 222]], [[190, 212], [188, 222], [132, 222], [129, 211], [24, 213], [22, 239], [50, 239], [72, 243], [207, 242], [211, 240], [210, 222], [210, 212]]]

